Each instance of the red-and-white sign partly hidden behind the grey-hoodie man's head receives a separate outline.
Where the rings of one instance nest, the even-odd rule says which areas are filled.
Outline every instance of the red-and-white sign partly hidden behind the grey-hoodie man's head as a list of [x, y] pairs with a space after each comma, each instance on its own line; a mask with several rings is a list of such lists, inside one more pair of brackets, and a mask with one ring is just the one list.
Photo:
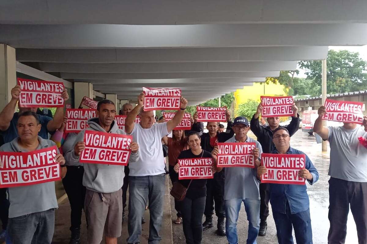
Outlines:
[[96, 110], [92, 109], [66, 109], [66, 122], [65, 132], [79, 133], [85, 128], [88, 128], [87, 120], [97, 117]]

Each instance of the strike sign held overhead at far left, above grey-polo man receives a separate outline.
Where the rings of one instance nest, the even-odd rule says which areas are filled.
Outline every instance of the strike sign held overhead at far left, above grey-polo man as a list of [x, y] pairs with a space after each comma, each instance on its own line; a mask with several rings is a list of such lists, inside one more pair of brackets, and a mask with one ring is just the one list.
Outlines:
[[19, 106], [22, 108], [54, 108], [63, 107], [64, 100], [61, 93], [64, 90], [62, 82], [29, 80], [18, 78], [21, 86]]

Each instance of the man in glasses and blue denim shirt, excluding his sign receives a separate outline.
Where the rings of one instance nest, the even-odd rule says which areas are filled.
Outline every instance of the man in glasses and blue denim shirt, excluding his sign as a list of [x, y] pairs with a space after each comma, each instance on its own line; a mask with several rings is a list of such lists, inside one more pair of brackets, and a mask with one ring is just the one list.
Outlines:
[[[279, 127], [273, 131], [275, 150], [279, 154], [304, 154], [290, 147], [290, 135], [286, 128]], [[305, 169], [299, 170], [299, 176], [310, 185], [319, 179], [319, 173], [307, 155]], [[266, 173], [265, 166], [257, 169], [257, 177]], [[293, 243], [292, 226], [297, 244], [312, 244], [312, 229], [309, 209], [309, 198], [306, 185], [270, 183], [270, 203], [277, 230], [279, 244]]]

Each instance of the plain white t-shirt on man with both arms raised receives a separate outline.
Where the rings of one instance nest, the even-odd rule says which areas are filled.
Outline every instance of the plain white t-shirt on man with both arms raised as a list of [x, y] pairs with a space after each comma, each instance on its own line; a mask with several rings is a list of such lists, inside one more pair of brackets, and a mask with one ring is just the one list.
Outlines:
[[167, 122], [155, 123], [148, 129], [134, 124], [131, 134], [139, 145], [140, 159], [129, 164], [130, 176], [148, 176], [166, 173], [162, 137], [168, 135]]

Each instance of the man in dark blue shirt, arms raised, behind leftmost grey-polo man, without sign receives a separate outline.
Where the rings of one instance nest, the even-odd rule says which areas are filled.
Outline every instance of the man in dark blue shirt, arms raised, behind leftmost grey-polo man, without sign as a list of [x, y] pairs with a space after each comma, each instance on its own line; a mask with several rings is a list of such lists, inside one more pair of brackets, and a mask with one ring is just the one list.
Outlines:
[[[18, 136], [17, 123], [19, 113], [29, 110], [36, 112], [37, 110], [37, 108], [19, 108], [19, 113], [14, 113], [15, 106], [17, 106], [17, 102], [19, 100], [20, 92], [21, 87], [19, 85], [16, 85], [13, 89], [11, 89], [11, 100], [0, 113], [0, 134], [3, 136], [5, 143], [11, 142]], [[61, 97], [64, 99], [64, 101], [68, 100], [68, 92], [64, 90], [61, 94]], [[53, 119], [48, 116], [39, 116], [38, 118], [41, 124], [41, 130], [38, 135], [43, 139], [48, 139], [48, 132], [53, 132], [58, 129], [62, 124], [63, 117], [63, 107], [58, 107], [56, 109]]]

